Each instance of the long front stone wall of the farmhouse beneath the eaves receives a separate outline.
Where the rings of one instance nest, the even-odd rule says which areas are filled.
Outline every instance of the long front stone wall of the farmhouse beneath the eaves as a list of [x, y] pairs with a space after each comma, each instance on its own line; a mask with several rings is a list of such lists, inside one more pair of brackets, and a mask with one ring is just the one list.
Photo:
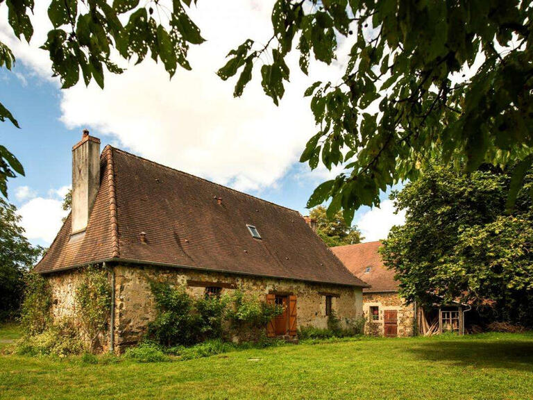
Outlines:
[[[233, 285], [244, 292], [261, 297], [268, 293], [296, 295], [296, 324], [326, 328], [325, 294], [338, 294], [332, 299], [332, 308], [344, 323], [362, 315], [362, 290], [341, 285], [325, 285], [283, 279], [237, 276], [218, 272], [199, 272], [191, 269], [165, 269], [161, 267], [115, 267], [115, 348], [123, 349], [138, 342], [148, 323], [155, 318], [155, 304], [150, 280], [167, 281], [174, 285], [187, 285], [187, 281], [216, 282]], [[189, 294], [202, 296], [205, 288], [197, 283], [187, 286]], [[223, 288], [222, 291], [232, 289]]]

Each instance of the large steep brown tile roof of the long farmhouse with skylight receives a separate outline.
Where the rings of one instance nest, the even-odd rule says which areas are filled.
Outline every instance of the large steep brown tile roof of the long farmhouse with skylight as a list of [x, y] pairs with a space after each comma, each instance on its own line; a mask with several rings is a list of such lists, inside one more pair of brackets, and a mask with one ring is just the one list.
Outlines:
[[85, 236], [69, 216], [35, 270], [120, 260], [366, 287], [297, 211], [108, 146]]

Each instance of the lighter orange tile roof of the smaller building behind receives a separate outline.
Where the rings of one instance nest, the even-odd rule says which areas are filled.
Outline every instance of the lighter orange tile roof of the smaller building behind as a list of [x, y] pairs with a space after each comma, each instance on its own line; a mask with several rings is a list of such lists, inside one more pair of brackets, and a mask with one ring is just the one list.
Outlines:
[[[395, 272], [383, 265], [378, 249], [381, 242], [348, 244], [332, 247], [333, 253], [350, 269], [355, 276], [371, 285], [363, 292], [398, 292]], [[365, 272], [370, 267], [369, 272]]]

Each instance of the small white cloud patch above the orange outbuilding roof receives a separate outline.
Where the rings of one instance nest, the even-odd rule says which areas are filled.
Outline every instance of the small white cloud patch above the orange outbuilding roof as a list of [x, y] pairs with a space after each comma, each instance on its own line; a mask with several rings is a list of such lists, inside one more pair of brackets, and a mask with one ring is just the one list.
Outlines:
[[381, 202], [380, 208], [374, 207], [367, 211], [356, 223], [364, 236], [364, 242], [386, 239], [392, 226], [405, 223], [405, 210], [394, 214], [394, 202], [385, 200]]

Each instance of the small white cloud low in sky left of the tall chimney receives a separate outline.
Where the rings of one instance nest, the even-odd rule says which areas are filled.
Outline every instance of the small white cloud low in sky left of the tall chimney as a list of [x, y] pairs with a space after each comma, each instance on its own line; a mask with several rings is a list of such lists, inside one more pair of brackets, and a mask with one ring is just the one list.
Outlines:
[[21, 225], [26, 231], [26, 238], [51, 243], [61, 228], [61, 219], [68, 214], [61, 205], [60, 200], [43, 197], [35, 197], [24, 203], [18, 213], [22, 217]]

